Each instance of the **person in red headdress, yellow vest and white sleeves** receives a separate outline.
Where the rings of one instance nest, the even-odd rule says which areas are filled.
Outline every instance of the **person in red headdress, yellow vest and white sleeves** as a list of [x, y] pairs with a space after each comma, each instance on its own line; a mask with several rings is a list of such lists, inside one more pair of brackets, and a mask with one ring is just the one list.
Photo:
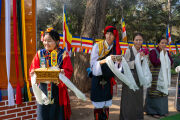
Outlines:
[[[114, 74], [106, 64], [106, 57], [120, 55], [118, 31], [113, 26], [104, 30], [105, 40], [96, 43], [91, 53], [92, 70], [91, 101], [94, 105], [95, 120], [108, 120], [109, 106], [112, 105]], [[118, 63], [117, 63], [118, 65]]]

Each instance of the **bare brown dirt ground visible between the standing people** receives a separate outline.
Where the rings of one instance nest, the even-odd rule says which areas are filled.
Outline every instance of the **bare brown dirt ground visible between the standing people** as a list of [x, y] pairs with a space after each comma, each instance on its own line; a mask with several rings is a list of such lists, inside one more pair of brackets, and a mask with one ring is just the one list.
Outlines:
[[[175, 109], [175, 94], [176, 94], [176, 80], [173, 80], [172, 86], [169, 88], [169, 115], [178, 113]], [[118, 85], [117, 95], [113, 97], [113, 104], [110, 107], [110, 120], [119, 120], [120, 115], [120, 98], [121, 98], [121, 85]], [[146, 89], [144, 90], [144, 96]], [[89, 99], [90, 94], [86, 93], [87, 101], [79, 100], [74, 93], [69, 92], [72, 115], [71, 120], [94, 120], [93, 105]], [[151, 116], [144, 114], [144, 120], [157, 120]]]

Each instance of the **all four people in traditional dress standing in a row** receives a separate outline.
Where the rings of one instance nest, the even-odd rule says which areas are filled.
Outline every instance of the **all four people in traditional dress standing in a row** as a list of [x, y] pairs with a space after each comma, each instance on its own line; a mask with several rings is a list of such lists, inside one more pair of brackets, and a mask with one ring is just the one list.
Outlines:
[[[94, 106], [95, 120], [109, 120], [113, 86], [117, 85], [114, 71], [107, 65], [106, 58], [111, 57], [114, 66], [120, 73], [126, 72], [122, 65], [122, 58], [118, 60], [115, 58], [115, 56], [121, 55], [117, 29], [113, 26], [107, 26], [104, 29], [104, 36], [104, 41], [94, 44], [90, 58], [92, 70], [90, 99]], [[122, 82], [120, 120], [143, 120], [144, 111], [156, 118], [168, 114], [168, 86], [171, 79], [169, 71], [173, 61], [166, 50], [167, 40], [165, 38], [159, 39], [158, 47], [151, 50], [148, 55], [142, 48], [143, 41], [141, 33], [135, 34], [133, 38], [134, 45], [126, 50], [124, 57], [122, 56], [130, 69], [128, 74], [132, 74], [134, 84], [138, 89], [132, 89], [130, 87], [131, 83], [127, 85]], [[68, 53], [58, 47], [59, 34], [54, 30], [46, 31], [43, 45], [44, 49], [39, 50], [32, 61], [29, 70], [31, 79], [36, 68], [52, 66], [52, 56], [50, 54], [54, 50], [57, 52], [57, 67], [62, 74], [71, 78], [73, 67]], [[137, 55], [139, 55], [141, 63], [145, 56], [149, 56], [148, 64], [150, 64], [152, 70], [152, 80], [147, 88], [145, 105], [143, 102], [143, 84], [136, 66]], [[58, 85], [55, 83], [40, 83], [38, 86], [53, 102], [48, 105], [38, 103], [37, 119], [70, 120], [70, 100], [66, 85], [60, 81]]]

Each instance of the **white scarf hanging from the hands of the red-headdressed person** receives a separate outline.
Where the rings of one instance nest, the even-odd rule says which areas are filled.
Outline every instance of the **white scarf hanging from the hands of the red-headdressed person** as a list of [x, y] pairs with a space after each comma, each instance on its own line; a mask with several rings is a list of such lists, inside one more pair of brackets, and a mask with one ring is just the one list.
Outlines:
[[106, 58], [106, 64], [111, 69], [111, 71], [119, 78], [119, 80], [121, 80], [123, 83], [125, 83], [133, 91], [138, 90], [139, 88], [136, 85], [136, 82], [135, 82], [134, 77], [133, 77], [133, 75], [131, 73], [129, 65], [127, 64], [124, 57], [122, 57], [121, 63], [122, 63], [122, 67], [123, 67], [123, 70], [124, 70], [124, 74], [121, 73], [121, 71], [119, 71], [117, 67], [115, 67], [114, 62], [111, 59], [111, 56], [108, 56]]

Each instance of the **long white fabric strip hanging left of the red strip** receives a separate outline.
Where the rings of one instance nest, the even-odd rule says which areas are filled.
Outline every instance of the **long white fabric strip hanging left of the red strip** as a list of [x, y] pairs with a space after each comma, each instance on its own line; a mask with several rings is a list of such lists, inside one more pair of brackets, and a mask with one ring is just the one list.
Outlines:
[[8, 105], [13, 106], [14, 93], [10, 83], [10, 65], [11, 65], [11, 0], [5, 0], [5, 44], [6, 44], [6, 70], [8, 79]]

